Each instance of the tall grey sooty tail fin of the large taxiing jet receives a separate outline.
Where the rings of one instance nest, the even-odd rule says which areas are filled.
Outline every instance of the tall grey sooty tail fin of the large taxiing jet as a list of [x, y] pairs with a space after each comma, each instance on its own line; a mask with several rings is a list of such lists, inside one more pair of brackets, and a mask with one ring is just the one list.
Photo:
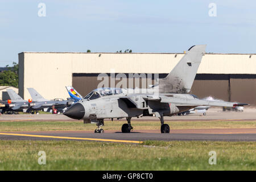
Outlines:
[[167, 77], [159, 79], [159, 92], [188, 93], [205, 53], [206, 45], [192, 46]]

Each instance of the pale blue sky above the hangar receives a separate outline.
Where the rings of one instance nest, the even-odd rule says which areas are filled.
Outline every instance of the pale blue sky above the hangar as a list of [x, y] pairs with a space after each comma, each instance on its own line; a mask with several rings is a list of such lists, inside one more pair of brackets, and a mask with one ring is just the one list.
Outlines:
[[183, 52], [207, 44], [207, 52], [256, 53], [255, 9], [255, 1], [237, 0], [0, 0], [0, 67], [23, 51]]

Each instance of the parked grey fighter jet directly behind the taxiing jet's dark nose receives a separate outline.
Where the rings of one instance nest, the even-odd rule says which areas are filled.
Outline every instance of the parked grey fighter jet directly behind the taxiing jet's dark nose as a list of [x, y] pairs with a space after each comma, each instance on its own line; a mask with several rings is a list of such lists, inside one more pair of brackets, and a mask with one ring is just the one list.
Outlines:
[[64, 101], [56, 101], [56, 100], [46, 100], [43, 98], [34, 88], [27, 88], [28, 92], [32, 97], [32, 101], [34, 105], [32, 105], [29, 110], [41, 110], [44, 108], [48, 108], [51, 106], [55, 106], [55, 109], [62, 111], [65, 107], [73, 104], [73, 100], [64, 100]]

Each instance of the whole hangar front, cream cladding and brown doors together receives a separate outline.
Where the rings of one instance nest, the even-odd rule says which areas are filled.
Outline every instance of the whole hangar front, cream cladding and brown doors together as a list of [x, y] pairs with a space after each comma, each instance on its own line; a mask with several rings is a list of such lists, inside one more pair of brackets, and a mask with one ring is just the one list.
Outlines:
[[[182, 56], [183, 53], [22, 52], [19, 53], [19, 94], [27, 100], [30, 98], [27, 88], [32, 87], [47, 99], [67, 98], [65, 86], [68, 85], [79, 87], [77, 90], [83, 88], [81, 93], [85, 94], [97, 84], [92, 76], [79, 77], [79, 74], [90, 73], [94, 77], [97, 73], [113, 71], [167, 74]], [[256, 78], [229, 78], [232, 74], [256, 75], [255, 54], [205, 54], [197, 73], [201, 78], [196, 78], [192, 92], [200, 97], [212, 95], [240, 101], [246, 93], [254, 97], [250, 103], [256, 104]], [[208, 80], [203, 74], [210, 75]], [[227, 90], [232, 90], [233, 95], [230, 96]]]

